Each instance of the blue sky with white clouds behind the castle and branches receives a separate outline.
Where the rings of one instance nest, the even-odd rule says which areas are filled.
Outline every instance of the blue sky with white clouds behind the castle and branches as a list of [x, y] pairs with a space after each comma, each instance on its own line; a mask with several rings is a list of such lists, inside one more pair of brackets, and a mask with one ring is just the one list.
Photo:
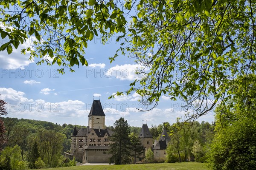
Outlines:
[[[131, 126], [141, 127], [159, 125], [163, 122], [174, 123], [177, 117], [184, 116], [183, 105], [179, 100], [171, 101], [161, 96], [156, 108], [150, 111], [138, 100], [140, 96], [132, 93], [128, 96], [116, 96], [108, 99], [117, 91], [126, 91], [129, 84], [140, 76], [135, 69], [140, 65], [127, 56], [119, 56], [110, 63], [119, 44], [115, 42], [118, 35], [113, 36], [105, 45], [100, 37], [88, 43], [85, 58], [88, 66], [74, 66], [75, 73], [68, 69], [59, 74], [57, 64], [37, 65], [29, 60], [29, 53], [21, 54], [22, 48], [29, 47], [35, 37], [30, 37], [12, 54], [0, 52], [0, 98], [8, 102], [7, 116], [18, 119], [35, 119], [57, 124], [88, 125], [88, 114], [93, 99], [99, 100], [105, 112], [105, 125], [113, 126], [120, 117], [124, 117]], [[6, 43], [0, 39], [0, 44]], [[121, 40], [122, 42], [122, 40]], [[213, 122], [212, 112], [198, 119]]]

